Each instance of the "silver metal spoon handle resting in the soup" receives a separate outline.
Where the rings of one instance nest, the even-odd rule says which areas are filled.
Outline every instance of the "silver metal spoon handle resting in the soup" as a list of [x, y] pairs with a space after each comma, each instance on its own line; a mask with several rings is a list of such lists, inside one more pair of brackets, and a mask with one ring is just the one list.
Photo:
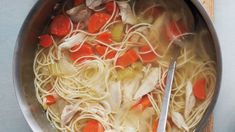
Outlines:
[[175, 68], [176, 68], [176, 59], [173, 59], [173, 61], [170, 63], [169, 70], [167, 72], [166, 88], [164, 92], [157, 132], [165, 132], [166, 130], [167, 115], [168, 115], [170, 95], [171, 95], [171, 89], [172, 89], [172, 84], [173, 84], [173, 79], [174, 79]]

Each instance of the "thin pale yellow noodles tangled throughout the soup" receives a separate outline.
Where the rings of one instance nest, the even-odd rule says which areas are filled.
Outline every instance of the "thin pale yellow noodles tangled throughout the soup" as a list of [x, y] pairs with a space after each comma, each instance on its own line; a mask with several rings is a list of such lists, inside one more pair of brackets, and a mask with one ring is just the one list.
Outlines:
[[[104, 130], [109, 130], [110, 132], [127, 131], [132, 129], [132, 127], [132, 130], [140, 132], [152, 131], [154, 120], [160, 116], [166, 85], [165, 78], [171, 56], [173, 55], [174, 43], [183, 38], [182, 43], [186, 46], [181, 48], [177, 59], [168, 117], [173, 118], [174, 112], [180, 113], [188, 130], [193, 131], [212, 100], [216, 83], [216, 62], [211, 57], [212, 55], [208, 54], [205, 47], [203, 47], [205, 45], [203, 41], [204, 30], [195, 33], [181, 33], [174, 36], [171, 41], [152, 41], [145, 32], [150, 34], [153, 30], [157, 30], [154, 29], [154, 23], [140, 21], [135, 25], [125, 25], [126, 31], [123, 33], [122, 41], [103, 42], [96, 39], [96, 37], [109, 31], [115, 24], [122, 22], [121, 20], [116, 20], [119, 15], [117, 13], [118, 5], [115, 1], [113, 4], [114, 10], [111, 17], [98, 32], [89, 33], [87, 30], [79, 29], [79, 24], [74, 28], [73, 22], [70, 21], [72, 25], [71, 30], [66, 36], [61, 39], [53, 37], [52, 46], [37, 50], [33, 65], [35, 74], [34, 85], [36, 97], [45, 109], [48, 120], [59, 131], [82, 131], [85, 123], [90, 119], [98, 121]], [[138, 17], [138, 13], [135, 12], [136, 4], [134, 3], [131, 9], [134, 12], [134, 16]], [[143, 11], [143, 14], [146, 14], [152, 8], [160, 6], [160, 4], [152, 5]], [[102, 7], [99, 10], [103, 11], [105, 8]], [[165, 17], [164, 19], [168, 20], [170, 15]], [[164, 26], [164, 23], [161, 26]], [[66, 50], [59, 49], [63, 42], [69, 41], [71, 38], [76, 39], [76, 35], [79, 33], [86, 35], [79, 46]], [[133, 42], [131, 40], [132, 37], [138, 38], [138, 41]], [[159, 37], [161, 38], [162, 34], [157, 34], [156, 38]], [[79, 52], [85, 44], [95, 46], [97, 43], [107, 47], [103, 55], [84, 55], [79, 56], [76, 60], [69, 59], [71, 52]], [[198, 43], [201, 45], [200, 48], [195, 46]], [[139, 51], [138, 48], [144, 45], [147, 45], [149, 50]], [[134, 49], [138, 54], [140, 62], [135, 62], [128, 68], [118, 66], [118, 59], [130, 49]], [[198, 50], [203, 51], [203, 53], [199, 55]], [[113, 51], [116, 52], [114, 57], [106, 59]], [[156, 60], [146, 64], [143, 58], [141, 58], [141, 54], [149, 53], [153, 53], [156, 56]], [[81, 60], [86, 58], [89, 59], [80, 63]], [[139, 114], [139, 111], [133, 110], [133, 105], [138, 103], [140, 98], [137, 100], [132, 98], [140, 85], [144, 83], [145, 78], [155, 68], [159, 68], [161, 74], [159, 74], [159, 79], [155, 84], [156, 86], [154, 86], [155, 88], [146, 94], [151, 106]], [[126, 69], [129, 69], [129, 71], [125, 71]], [[131, 72], [131, 77], [120, 79], [119, 76], [122, 76], [120, 71], [122, 70], [125, 71], [123, 75]], [[206, 80], [206, 98], [203, 101], [196, 100], [189, 114], [185, 116], [187, 85], [188, 83], [193, 85], [201, 78]], [[125, 87], [129, 84], [131, 86]], [[135, 85], [138, 86], [133, 91], [125, 89]], [[115, 91], [114, 93], [116, 94], [113, 97], [112, 90], [114, 88], [120, 91]], [[118, 92], [121, 95], [117, 94]], [[125, 92], [130, 92], [132, 95], [128, 97], [126, 95], [128, 93]], [[53, 105], [46, 104], [46, 97], [50, 95], [56, 99], [56, 103]], [[117, 106], [117, 109], [116, 106], [115, 108], [112, 106], [112, 102], [109, 102], [112, 98], [120, 99], [116, 100], [120, 101], [120, 107]], [[127, 98], [131, 99], [127, 100]], [[118, 102], [114, 103], [118, 105]], [[67, 107], [68, 111], [66, 113], [65, 109]], [[65, 118], [72, 110], [74, 110], [74, 113], [71, 118]], [[173, 123], [177, 124], [174, 120]], [[172, 121], [168, 120], [167, 131], [173, 129], [186, 131], [185, 128], [173, 125]]]

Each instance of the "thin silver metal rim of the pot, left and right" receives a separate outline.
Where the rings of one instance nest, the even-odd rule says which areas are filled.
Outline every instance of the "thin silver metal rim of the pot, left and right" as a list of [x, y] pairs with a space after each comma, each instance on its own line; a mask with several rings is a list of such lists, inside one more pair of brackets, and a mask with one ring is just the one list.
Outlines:
[[[187, 0], [184, 0], [187, 1]], [[28, 25], [28, 23], [30, 22], [31, 18], [33, 17], [34, 13], [39, 9], [39, 7], [45, 3], [46, 1], [44, 0], [39, 0], [35, 3], [35, 5], [31, 8], [29, 14], [27, 15], [26, 19], [24, 20], [24, 23], [18, 33], [18, 37], [16, 40], [16, 44], [15, 44], [15, 48], [14, 48], [14, 55], [13, 55], [13, 69], [12, 69], [12, 76], [13, 76], [13, 84], [14, 84], [14, 89], [15, 89], [15, 95], [17, 97], [18, 100], [18, 105], [20, 106], [20, 109], [24, 115], [24, 119], [26, 120], [26, 122], [28, 123], [28, 125], [30, 126], [30, 128], [32, 129], [32, 131], [43, 131], [42, 127], [37, 123], [37, 121], [35, 120], [34, 116], [32, 115], [32, 112], [29, 109], [29, 106], [27, 104], [26, 98], [22, 93], [22, 84], [20, 81], [20, 42], [21, 39], [24, 35], [24, 31], [26, 30], [26, 27]], [[199, 12], [199, 14], [201, 15], [202, 19], [205, 21], [210, 34], [212, 36], [212, 40], [214, 42], [215, 45], [215, 51], [216, 51], [216, 87], [215, 87], [215, 92], [212, 98], [212, 101], [210, 103], [210, 105], [208, 106], [207, 110], [204, 113], [204, 118], [202, 118], [202, 120], [198, 123], [198, 127], [196, 127], [197, 132], [201, 131], [205, 125], [206, 122], [209, 119], [209, 116], [211, 115], [214, 106], [216, 104], [216, 101], [218, 99], [218, 95], [219, 95], [219, 91], [220, 91], [220, 84], [221, 84], [221, 77], [222, 77], [222, 57], [221, 57], [221, 50], [220, 50], [220, 45], [219, 45], [219, 40], [214, 28], [214, 25], [210, 19], [210, 17], [208, 16], [206, 10], [204, 9], [204, 7], [202, 6], [202, 4], [198, 1], [198, 0], [190, 0], [190, 2], [193, 4], [193, 6], [195, 6], [195, 8], [197, 9], [197, 11]]]

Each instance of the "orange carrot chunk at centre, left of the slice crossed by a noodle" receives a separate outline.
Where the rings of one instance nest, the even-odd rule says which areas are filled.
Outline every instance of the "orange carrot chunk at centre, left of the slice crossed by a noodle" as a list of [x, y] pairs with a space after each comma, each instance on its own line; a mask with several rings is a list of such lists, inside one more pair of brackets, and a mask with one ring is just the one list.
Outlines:
[[117, 59], [116, 65], [121, 67], [127, 67], [138, 60], [138, 56], [135, 50], [130, 49]]

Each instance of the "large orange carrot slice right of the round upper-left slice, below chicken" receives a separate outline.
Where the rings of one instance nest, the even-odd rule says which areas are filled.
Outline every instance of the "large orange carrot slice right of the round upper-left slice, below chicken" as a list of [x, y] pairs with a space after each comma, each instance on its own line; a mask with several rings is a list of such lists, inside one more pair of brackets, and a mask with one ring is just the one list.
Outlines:
[[111, 16], [107, 13], [94, 13], [88, 20], [88, 32], [96, 33], [104, 26]]

